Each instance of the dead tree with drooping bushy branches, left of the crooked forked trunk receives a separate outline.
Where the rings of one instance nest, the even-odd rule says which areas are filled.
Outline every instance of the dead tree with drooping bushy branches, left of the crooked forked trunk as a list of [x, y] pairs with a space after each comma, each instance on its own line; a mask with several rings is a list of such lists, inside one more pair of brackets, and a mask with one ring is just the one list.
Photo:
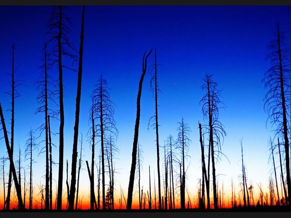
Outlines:
[[102, 163], [102, 209], [105, 209], [105, 145], [108, 142], [106, 134], [118, 135], [113, 118], [114, 108], [113, 102], [110, 100], [109, 88], [107, 87], [106, 79], [98, 80], [96, 88], [91, 94], [93, 102], [93, 117], [99, 123], [95, 124], [96, 136], [101, 142], [101, 163]]

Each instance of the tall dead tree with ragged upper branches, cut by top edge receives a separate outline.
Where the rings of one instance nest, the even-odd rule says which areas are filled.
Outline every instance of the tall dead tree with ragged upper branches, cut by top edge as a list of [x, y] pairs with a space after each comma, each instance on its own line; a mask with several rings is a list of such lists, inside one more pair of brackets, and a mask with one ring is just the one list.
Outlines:
[[[63, 63], [63, 57], [69, 57], [73, 62], [76, 60], [76, 55], [72, 54], [72, 50], [76, 51], [73, 45], [69, 42], [70, 24], [68, 16], [63, 12], [65, 6], [54, 6], [51, 16], [48, 21], [48, 34], [51, 38], [48, 44], [52, 45], [52, 51], [48, 53], [52, 57], [51, 64], [58, 66], [59, 71], [59, 114], [60, 114], [60, 129], [59, 129], [59, 173], [58, 173], [58, 193], [57, 193], [57, 210], [62, 210], [62, 192], [63, 192], [63, 172], [64, 172], [64, 91], [63, 91], [63, 69], [71, 69]], [[74, 70], [73, 70], [74, 71]]]

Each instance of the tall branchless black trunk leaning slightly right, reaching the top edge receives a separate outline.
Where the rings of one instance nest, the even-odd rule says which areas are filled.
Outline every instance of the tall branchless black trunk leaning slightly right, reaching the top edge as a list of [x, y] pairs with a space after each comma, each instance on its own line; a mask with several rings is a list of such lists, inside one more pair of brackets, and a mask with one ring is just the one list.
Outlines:
[[[78, 85], [76, 96], [76, 116], [74, 126], [74, 142], [72, 153], [72, 171], [71, 171], [71, 187], [69, 195], [69, 210], [74, 209], [75, 192], [76, 192], [76, 171], [77, 171], [77, 158], [78, 158], [78, 134], [79, 134], [79, 117], [80, 117], [80, 102], [81, 102], [81, 83], [82, 83], [82, 65], [83, 65], [83, 41], [84, 41], [84, 14], [85, 6], [82, 7], [82, 23], [81, 23], [81, 42], [79, 50], [79, 69], [78, 69]], [[94, 165], [92, 171], [94, 169]]]

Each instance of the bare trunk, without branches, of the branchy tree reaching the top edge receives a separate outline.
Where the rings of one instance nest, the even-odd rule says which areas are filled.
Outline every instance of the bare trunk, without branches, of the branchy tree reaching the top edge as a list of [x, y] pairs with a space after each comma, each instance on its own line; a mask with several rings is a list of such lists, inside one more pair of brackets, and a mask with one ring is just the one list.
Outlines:
[[59, 6], [59, 34], [58, 34], [58, 65], [59, 65], [59, 104], [60, 104], [60, 145], [59, 145], [59, 178], [58, 178], [58, 199], [57, 210], [62, 210], [62, 196], [63, 196], [63, 171], [64, 171], [64, 90], [63, 90], [63, 63], [62, 63], [62, 23], [63, 12], [62, 6]]

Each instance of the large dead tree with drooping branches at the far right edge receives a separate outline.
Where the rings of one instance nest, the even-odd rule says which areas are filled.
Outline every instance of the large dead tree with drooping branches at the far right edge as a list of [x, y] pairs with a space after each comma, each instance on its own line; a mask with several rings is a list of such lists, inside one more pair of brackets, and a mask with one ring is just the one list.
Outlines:
[[267, 93], [264, 109], [268, 113], [267, 122], [271, 128], [275, 126], [275, 137], [282, 137], [285, 147], [286, 182], [288, 189], [288, 204], [290, 205], [290, 50], [286, 46], [285, 35], [280, 30], [279, 23], [274, 32], [275, 39], [271, 41], [271, 52], [268, 58], [272, 66], [266, 71], [262, 81]]

